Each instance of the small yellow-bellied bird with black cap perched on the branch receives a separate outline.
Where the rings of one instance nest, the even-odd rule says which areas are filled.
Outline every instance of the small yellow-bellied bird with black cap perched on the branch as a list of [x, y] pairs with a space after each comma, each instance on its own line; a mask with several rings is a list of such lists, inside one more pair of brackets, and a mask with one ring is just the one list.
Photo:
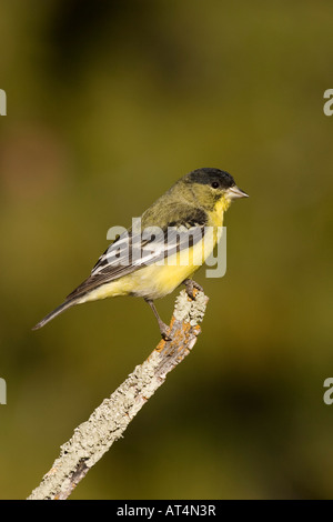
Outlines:
[[[161, 320], [154, 300], [182, 283], [192, 299], [194, 289], [202, 291], [192, 274], [218, 243], [223, 214], [231, 202], [246, 197], [223, 170], [203, 168], [188, 173], [143, 212], [140, 228], [128, 229], [111, 243], [89, 278], [32, 330], [74, 304], [134, 295], [150, 304], [162, 338], [170, 340], [169, 327]], [[184, 254], [185, 262], [181, 262]]]

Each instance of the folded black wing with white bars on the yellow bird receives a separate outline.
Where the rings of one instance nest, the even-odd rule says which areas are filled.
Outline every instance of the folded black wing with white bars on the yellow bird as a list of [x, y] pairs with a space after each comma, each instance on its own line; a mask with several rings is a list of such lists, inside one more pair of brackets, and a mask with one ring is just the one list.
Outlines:
[[205, 220], [191, 218], [169, 223], [163, 229], [148, 227], [139, 232], [123, 232], [99, 258], [90, 277], [67, 299], [75, 299], [149, 264], [193, 247], [203, 238]]

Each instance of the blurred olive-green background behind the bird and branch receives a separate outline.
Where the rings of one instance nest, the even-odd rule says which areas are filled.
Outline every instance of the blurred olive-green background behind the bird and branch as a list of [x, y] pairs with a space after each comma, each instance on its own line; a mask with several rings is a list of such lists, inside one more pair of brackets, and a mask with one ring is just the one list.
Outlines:
[[31, 327], [110, 227], [199, 167], [251, 195], [226, 214], [226, 275], [199, 272], [193, 353], [71, 499], [332, 498], [332, 18], [321, 0], [1, 2], [2, 499], [159, 341], [135, 299]]

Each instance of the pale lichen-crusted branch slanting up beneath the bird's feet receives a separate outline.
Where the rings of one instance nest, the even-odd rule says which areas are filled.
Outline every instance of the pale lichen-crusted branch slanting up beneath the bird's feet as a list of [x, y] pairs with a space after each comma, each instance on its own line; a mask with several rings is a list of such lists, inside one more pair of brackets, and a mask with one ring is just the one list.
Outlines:
[[28, 500], [64, 500], [102, 455], [120, 439], [167, 374], [191, 351], [200, 333], [208, 298], [185, 290], [176, 299], [170, 323], [171, 341], [161, 341], [149, 358], [80, 424], [61, 446], [59, 458]]

